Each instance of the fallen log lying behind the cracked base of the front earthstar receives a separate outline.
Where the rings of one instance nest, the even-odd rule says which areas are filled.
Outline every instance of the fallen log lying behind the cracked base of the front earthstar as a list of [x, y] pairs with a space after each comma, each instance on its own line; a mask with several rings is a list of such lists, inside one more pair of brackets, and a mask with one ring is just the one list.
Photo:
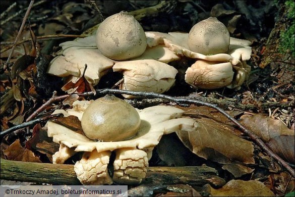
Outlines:
[[[141, 184], [190, 184], [203, 186], [218, 175], [207, 166], [148, 167]], [[48, 183], [53, 185], [81, 185], [74, 165], [19, 162], [1, 159], [1, 179]]]

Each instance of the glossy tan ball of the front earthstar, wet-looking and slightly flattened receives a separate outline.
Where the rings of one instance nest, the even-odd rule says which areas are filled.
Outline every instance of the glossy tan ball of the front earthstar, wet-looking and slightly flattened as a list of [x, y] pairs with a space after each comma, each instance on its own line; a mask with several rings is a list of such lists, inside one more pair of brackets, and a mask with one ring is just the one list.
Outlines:
[[90, 139], [120, 141], [136, 135], [140, 117], [130, 104], [108, 94], [87, 107], [81, 125], [84, 134]]

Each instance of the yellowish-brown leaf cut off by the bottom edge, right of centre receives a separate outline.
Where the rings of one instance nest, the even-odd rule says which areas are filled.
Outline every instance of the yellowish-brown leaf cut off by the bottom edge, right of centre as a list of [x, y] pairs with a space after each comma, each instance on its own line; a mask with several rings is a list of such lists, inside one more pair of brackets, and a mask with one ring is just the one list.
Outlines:
[[220, 189], [214, 189], [206, 184], [203, 191], [211, 196], [275, 196], [267, 186], [255, 180], [230, 180]]

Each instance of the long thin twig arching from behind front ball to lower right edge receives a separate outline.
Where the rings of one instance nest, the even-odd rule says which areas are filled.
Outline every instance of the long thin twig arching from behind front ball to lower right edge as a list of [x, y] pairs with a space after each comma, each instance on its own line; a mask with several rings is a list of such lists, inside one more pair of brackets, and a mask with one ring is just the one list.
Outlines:
[[159, 94], [154, 92], [135, 92], [135, 91], [128, 91], [128, 90], [120, 90], [120, 89], [102, 89], [102, 90], [96, 90], [96, 93], [99, 94], [129, 94], [133, 96], [142, 96], [142, 97], [149, 97], [149, 98], [163, 98], [165, 100], [175, 102], [178, 104], [186, 103], [186, 104], [195, 104], [195, 105], [201, 105], [201, 106], [207, 106], [210, 108], [213, 108], [217, 111], [219, 111], [221, 114], [223, 114], [226, 118], [228, 118], [231, 122], [233, 122], [235, 125], [237, 125], [243, 133], [248, 135], [254, 142], [256, 142], [260, 148], [270, 157], [277, 160], [281, 165], [283, 165], [289, 173], [294, 177], [295, 172], [294, 170], [283, 160], [281, 159], [277, 154], [275, 154], [272, 150], [269, 149], [269, 147], [253, 132], [248, 130], [246, 127], [244, 127], [238, 120], [231, 117], [229, 114], [227, 114], [223, 109], [218, 107], [215, 104], [210, 104], [203, 101], [193, 100], [193, 99], [187, 99], [187, 98], [178, 98], [173, 96], [168, 96], [165, 94]]

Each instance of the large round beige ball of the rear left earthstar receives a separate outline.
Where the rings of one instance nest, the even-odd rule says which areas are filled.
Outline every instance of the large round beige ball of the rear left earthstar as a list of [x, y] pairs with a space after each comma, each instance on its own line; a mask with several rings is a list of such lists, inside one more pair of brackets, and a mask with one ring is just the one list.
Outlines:
[[112, 15], [99, 25], [96, 44], [104, 56], [113, 60], [139, 57], [147, 45], [142, 26], [127, 12]]

